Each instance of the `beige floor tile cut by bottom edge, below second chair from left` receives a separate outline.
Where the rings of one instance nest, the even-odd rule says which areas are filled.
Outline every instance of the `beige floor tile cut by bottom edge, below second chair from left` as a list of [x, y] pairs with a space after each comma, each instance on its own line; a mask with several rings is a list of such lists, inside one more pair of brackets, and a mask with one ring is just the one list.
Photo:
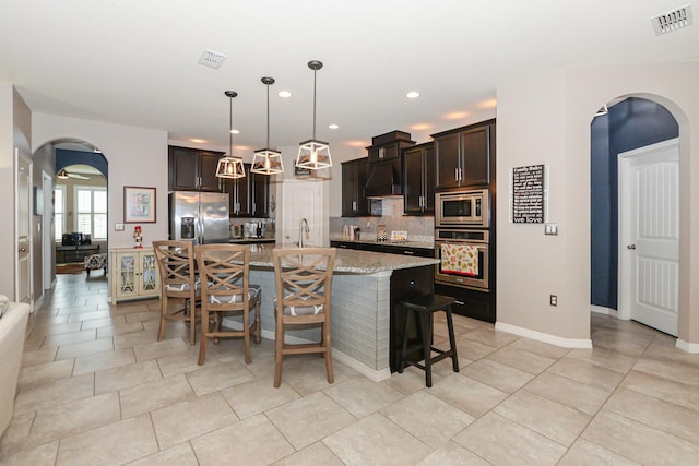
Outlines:
[[202, 466], [269, 465], [294, 453], [294, 447], [264, 415], [202, 435], [191, 444]]

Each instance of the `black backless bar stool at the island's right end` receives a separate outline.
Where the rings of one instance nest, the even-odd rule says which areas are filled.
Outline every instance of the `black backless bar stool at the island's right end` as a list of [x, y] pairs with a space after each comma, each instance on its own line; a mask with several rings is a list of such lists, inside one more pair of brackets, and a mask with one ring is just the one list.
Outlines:
[[[459, 361], [457, 359], [457, 342], [454, 338], [454, 324], [451, 319], [451, 304], [455, 302], [454, 298], [441, 295], [419, 295], [413, 298], [405, 299], [400, 304], [405, 309], [405, 320], [403, 321], [403, 342], [401, 347], [401, 356], [399, 358], [398, 371], [403, 373], [405, 363], [415, 366], [425, 371], [426, 385], [433, 386], [433, 365], [441, 361], [445, 358], [451, 358], [454, 372], [459, 372]], [[433, 344], [433, 314], [435, 312], [443, 311], [447, 315], [447, 326], [449, 328], [449, 345], [448, 350], [435, 348]], [[419, 342], [407, 347], [407, 321], [411, 313], [416, 316]], [[419, 360], [412, 361], [405, 358], [407, 351], [415, 349], [423, 349], [424, 365], [419, 363]], [[431, 357], [431, 351], [438, 353], [437, 356]]]

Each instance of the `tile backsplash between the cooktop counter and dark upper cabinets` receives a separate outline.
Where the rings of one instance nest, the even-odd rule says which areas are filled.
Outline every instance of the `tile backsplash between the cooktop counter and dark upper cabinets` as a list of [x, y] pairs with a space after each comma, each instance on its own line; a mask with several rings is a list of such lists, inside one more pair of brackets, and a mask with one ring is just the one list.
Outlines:
[[[367, 224], [370, 227], [367, 228]], [[375, 240], [377, 225], [386, 229], [407, 231], [408, 241], [431, 242], [435, 239], [435, 217], [403, 215], [403, 198], [381, 200], [380, 217], [330, 217], [330, 238], [342, 239], [345, 225], [356, 225], [362, 230], [362, 239]]]

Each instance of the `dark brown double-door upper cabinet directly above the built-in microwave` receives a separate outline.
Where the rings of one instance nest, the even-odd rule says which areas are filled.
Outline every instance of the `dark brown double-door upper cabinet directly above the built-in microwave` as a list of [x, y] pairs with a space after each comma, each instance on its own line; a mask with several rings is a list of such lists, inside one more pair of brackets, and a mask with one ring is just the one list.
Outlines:
[[490, 183], [495, 120], [433, 134], [436, 190]]

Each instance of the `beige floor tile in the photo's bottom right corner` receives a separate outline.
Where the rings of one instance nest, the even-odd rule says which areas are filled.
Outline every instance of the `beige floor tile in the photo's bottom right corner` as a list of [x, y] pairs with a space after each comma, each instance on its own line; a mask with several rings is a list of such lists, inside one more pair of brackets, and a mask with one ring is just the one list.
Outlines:
[[699, 457], [698, 444], [605, 409], [581, 437], [641, 464], [690, 465]]

